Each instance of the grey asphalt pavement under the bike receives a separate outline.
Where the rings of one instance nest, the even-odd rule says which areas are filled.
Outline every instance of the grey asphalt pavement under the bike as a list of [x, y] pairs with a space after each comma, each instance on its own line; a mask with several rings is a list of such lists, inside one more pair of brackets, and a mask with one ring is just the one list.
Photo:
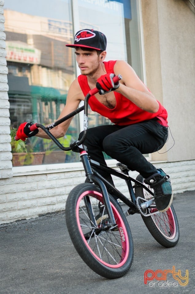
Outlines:
[[[1, 224], [0, 294], [193, 294], [195, 190], [175, 194], [173, 205], [180, 228], [179, 242], [173, 248], [159, 245], [140, 215], [127, 217], [134, 259], [129, 272], [114, 280], [97, 275], [77, 254], [65, 211]], [[148, 269], [154, 274], [159, 270], [158, 276], [169, 269], [166, 282], [153, 279], [144, 284]], [[178, 273], [187, 285], [180, 285]]]

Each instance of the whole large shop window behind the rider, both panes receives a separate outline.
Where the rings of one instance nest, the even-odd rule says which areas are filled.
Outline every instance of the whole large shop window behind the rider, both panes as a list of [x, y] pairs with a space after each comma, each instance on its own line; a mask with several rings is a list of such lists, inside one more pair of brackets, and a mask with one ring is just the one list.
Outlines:
[[[10, 120], [12, 130], [24, 121], [48, 124], [62, 111], [68, 89], [76, 72], [72, 43], [79, 29], [93, 28], [107, 36], [106, 60], [123, 59], [143, 80], [136, 0], [6, 0], [4, 6]], [[73, 16], [73, 19], [72, 19]], [[60, 139], [68, 145], [76, 140], [82, 126], [82, 113], [74, 117], [67, 134]], [[89, 110], [89, 127], [110, 121]], [[32, 162], [32, 153], [44, 153], [42, 164], [77, 162], [78, 154], [66, 158], [51, 141], [39, 138], [25, 143]], [[19, 165], [19, 163], [17, 163]]]

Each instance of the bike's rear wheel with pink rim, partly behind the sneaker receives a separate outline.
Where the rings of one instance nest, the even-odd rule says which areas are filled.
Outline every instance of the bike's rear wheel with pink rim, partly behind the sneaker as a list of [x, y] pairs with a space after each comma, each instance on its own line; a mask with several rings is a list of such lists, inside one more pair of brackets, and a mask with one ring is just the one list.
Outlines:
[[[138, 175], [136, 180], [144, 183], [144, 179], [141, 175]], [[149, 186], [147, 187], [150, 188]], [[152, 195], [149, 192], [137, 185], [135, 186], [135, 196], [136, 198], [141, 197], [147, 200], [152, 198]], [[147, 209], [147, 213], [156, 211], [157, 209], [155, 208], [155, 205], [153, 205], [152, 208]], [[174, 247], [178, 243], [179, 225], [173, 205], [171, 205], [165, 212], [159, 212], [148, 217], [141, 216], [149, 232], [159, 244], [164, 247]]]

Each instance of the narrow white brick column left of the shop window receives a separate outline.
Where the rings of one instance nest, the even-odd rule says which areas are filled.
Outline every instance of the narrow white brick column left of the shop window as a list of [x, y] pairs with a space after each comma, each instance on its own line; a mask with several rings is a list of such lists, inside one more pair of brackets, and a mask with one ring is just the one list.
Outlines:
[[6, 35], [4, 33], [3, 16], [4, 1], [0, 0], [0, 179], [10, 178], [12, 172], [12, 154], [11, 154], [11, 137], [10, 137], [10, 103], [8, 101], [8, 85], [6, 66]]

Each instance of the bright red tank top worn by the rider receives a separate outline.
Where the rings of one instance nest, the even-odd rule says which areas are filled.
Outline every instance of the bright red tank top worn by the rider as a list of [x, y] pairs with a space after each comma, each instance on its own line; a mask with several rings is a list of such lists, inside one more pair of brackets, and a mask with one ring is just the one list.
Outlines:
[[[113, 73], [115, 61], [104, 62], [106, 72]], [[78, 82], [82, 89], [83, 94], [86, 96], [90, 91], [90, 87], [87, 82], [87, 77], [84, 75], [78, 76]], [[91, 110], [96, 111], [100, 115], [107, 117], [112, 123], [120, 125], [120, 126], [128, 126], [134, 123], [140, 123], [144, 120], [149, 119], [158, 119], [159, 123], [163, 126], [167, 125], [167, 111], [166, 109], [159, 103], [159, 110], [156, 113], [150, 113], [148, 111], [144, 111], [136, 104], [131, 102], [125, 96], [118, 92], [114, 92], [116, 98], [116, 106], [113, 109], [110, 109], [99, 102], [95, 96], [91, 96], [89, 99], [89, 105]]]

